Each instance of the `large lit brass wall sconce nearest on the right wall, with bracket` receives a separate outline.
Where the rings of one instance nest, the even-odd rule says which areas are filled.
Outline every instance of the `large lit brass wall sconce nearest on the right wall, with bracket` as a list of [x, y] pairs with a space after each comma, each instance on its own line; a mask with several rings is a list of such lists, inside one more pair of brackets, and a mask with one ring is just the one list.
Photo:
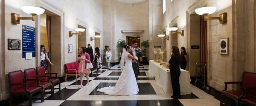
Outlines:
[[212, 14], [216, 11], [216, 7], [201, 7], [195, 9], [196, 14], [204, 15], [204, 21], [206, 20], [220, 20], [220, 24], [227, 23], [227, 13], [220, 14], [220, 17], [207, 17], [208, 14]]

